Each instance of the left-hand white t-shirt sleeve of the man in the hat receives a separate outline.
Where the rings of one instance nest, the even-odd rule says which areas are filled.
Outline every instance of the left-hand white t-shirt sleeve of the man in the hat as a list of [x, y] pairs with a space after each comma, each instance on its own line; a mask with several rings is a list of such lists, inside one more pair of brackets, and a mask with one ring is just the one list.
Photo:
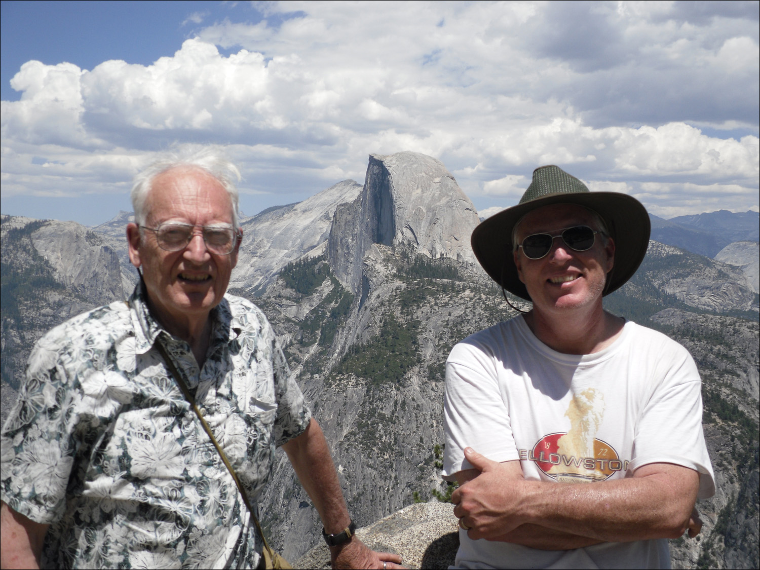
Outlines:
[[519, 459], [502, 392], [496, 359], [487, 346], [470, 337], [457, 344], [446, 361], [443, 478], [472, 469], [464, 448], [492, 461]]

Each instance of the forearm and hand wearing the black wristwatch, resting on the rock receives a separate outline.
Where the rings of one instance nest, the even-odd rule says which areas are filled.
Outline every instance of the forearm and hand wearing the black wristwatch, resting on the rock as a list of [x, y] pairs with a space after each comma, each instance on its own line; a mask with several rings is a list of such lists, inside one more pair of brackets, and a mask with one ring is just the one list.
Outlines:
[[[350, 524], [350, 516], [328, 442], [316, 420], [312, 418], [306, 431], [291, 439], [283, 449], [309, 497], [314, 502], [325, 531], [339, 534]], [[361, 540], [353, 537], [349, 542], [330, 549], [333, 568], [401, 568], [401, 556], [375, 553]], [[383, 562], [387, 562], [384, 565]]]

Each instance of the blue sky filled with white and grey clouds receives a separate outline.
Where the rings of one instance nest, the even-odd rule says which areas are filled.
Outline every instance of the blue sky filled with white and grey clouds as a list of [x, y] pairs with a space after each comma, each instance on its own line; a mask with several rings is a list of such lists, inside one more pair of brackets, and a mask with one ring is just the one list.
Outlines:
[[480, 215], [556, 164], [657, 216], [758, 211], [758, 2], [2, 2], [2, 213], [103, 223], [174, 146], [241, 210], [444, 163]]

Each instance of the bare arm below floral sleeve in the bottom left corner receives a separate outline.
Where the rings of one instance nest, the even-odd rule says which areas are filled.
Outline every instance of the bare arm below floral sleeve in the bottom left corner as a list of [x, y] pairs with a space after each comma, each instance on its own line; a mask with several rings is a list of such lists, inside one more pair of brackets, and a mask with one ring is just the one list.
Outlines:
[[40, 568], [40, 554], [49, 524], [40, 524], [0, 505], [0, 567]]

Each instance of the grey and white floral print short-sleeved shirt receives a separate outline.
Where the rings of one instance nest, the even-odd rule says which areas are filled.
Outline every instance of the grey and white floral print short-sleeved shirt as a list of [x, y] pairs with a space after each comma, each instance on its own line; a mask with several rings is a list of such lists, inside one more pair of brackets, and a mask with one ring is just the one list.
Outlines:
[[2, 431], [2, 500], [51, 524], [49, 568], [256, 568], [261, 538], [233, 478], [154, 347], [166, 347], [253, 499], [274, 449], [311, 413], [263, 313], [211, 312], [202, 369], [138, 286], [49, 331]]

